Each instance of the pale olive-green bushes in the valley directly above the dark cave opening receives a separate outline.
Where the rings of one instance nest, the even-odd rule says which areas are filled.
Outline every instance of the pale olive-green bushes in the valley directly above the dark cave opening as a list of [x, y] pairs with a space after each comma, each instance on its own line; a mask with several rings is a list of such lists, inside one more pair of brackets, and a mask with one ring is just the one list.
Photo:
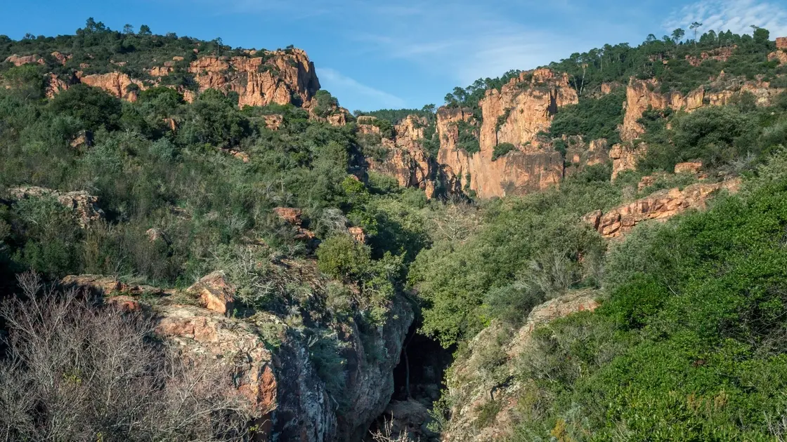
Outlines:
[[490, 203], [478, 234], [435, 242], [410, 268], [426, 303], [423, 333], [449, 347], [490, 319], [516, 323], [543, 300], [596, 285], [604, 243], [579, 219], [619, 198], [608, 181], [567, 179], [560, 190]]

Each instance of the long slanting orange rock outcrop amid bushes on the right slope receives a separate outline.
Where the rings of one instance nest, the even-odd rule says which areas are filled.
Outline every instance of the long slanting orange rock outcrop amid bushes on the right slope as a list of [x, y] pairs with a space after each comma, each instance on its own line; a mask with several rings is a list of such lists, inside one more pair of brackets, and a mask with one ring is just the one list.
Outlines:
[[683, 190], [678, 188], [660, 190], [606, 213], [600, 210], [591, 212], [583, 219], [604, 238], [618, 238], [630, 232], [637, 224], [650, 219], [666, 220], [689, 208], [704, 208], [708, 199], [719, 190], [735, 193], [740, 184], [740, 180], [733, 179], [714, 184], [700, 182]]

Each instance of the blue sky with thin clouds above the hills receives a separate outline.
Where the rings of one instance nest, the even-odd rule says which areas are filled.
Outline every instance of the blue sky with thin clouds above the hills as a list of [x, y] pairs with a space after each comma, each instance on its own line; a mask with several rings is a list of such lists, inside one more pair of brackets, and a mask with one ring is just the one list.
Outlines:
[[2, 0], [0, 34], [113, 29], [309, 53], [323, 89], [353, 109], [442, 104], [455, 86], [534, 68], [604, 43], [637, 44], [697, 20], [704, 29], [787, 35], [784, 0]]

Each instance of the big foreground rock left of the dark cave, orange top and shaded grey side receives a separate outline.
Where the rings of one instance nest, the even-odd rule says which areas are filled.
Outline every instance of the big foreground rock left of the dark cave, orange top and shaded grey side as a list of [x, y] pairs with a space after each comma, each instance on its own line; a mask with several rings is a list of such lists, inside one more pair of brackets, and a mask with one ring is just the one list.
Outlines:
[[[313, 267], [299, 267], [298, 272], [312, 272]], [[227, 316], [227, 300], [235, 295], [235, 288], [220, 272], [185, 292], [96, 275], [69, 276], [61, 284], [91, 289], [107, 304], [152, 315], [157, 332], [178, 345], [183, 357], [215, 358], [228, 364], [236, 389], [254, 411], [254, 440], [360, 440], [390, 401], [393, 368], [414, 317], [410, 304], [397, 297], [389, 319], [377, 330], [364, 334], [354, 323], [334, 326], [346, 363], [342, 373], [331, 374], [343, 379], [338, 396], [331, 396], [317, 374], [309, 354], [311, 344], [301, 336], [302, 330], [266, 312], [248, 319]], [[159, 300], [146, 304], [142, 294]]]

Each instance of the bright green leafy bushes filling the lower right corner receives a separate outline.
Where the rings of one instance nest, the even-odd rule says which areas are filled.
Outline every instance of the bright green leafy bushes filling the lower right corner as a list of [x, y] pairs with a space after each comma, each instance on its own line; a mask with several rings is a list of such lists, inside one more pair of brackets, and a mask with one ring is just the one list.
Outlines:
[[[770, 440], [785, 403], [785, 156], [704, 213], [637, 228], [611, 251], [609, 299], [552, 322], [523, 354], [542, 414], [515, 440]], [[599, 400], [604, 398], [603, 400]], [[622, 430], [623, 429], [623, 430]]]

